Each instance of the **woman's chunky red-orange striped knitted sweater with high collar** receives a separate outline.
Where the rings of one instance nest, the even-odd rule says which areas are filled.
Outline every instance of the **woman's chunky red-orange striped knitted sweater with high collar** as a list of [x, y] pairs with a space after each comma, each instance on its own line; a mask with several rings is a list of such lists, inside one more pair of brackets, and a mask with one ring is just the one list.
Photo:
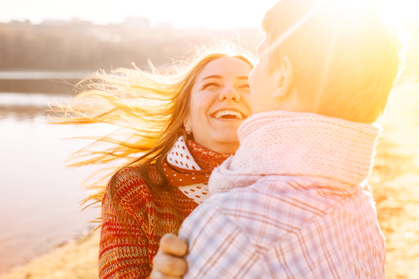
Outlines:
[[[212, 171], [229, 156], [208, 151], [193, 141], [187, 141], [186, 146], [202, 170]], [[151, 170], [150, 177], [161, 179], [156, 169]], [[195, 207], [196, 200], [178, 187], [172, 186], [167, 192], [151, 189], [142, 179], [140, 166], [118, 171], [102, 200], [99, 278], [149, 276], [160, 238], [166, 233], [177, 235], [181, 222]]]

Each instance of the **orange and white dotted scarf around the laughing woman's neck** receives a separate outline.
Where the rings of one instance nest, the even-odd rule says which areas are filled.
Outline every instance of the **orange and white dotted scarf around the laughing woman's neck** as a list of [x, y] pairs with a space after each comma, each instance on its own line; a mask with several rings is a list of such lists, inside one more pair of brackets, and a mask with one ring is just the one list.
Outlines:
[[172, 186], [200, 204], [209, 197], [208, 179], [212, 170], [230, 156], [207, 150], [181, 136], [167, 154], [162, 168]]

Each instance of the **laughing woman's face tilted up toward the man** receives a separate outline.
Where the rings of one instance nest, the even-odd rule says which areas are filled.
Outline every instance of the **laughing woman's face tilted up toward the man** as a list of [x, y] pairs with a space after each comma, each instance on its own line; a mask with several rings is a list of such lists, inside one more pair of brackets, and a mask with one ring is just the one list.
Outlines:
[[251, 69], [233, 57], [213, 60], [202, 69], [192, 87], [185, 120], [196, 143], [218, 153], [237, 150], [237, 128], [251, 115]]

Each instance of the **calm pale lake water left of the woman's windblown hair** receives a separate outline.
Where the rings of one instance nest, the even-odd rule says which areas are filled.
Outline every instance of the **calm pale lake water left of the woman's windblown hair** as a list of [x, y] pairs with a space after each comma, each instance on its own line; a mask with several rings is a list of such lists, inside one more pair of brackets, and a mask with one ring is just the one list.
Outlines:
[[65, 168], [83, 147], [72, 136], [108, 133], [103, 125], [51, 125], [42, 110], [70, 97], [0, 92], [0, 274], [46, 253], [96, 223], [98, 209], [80, 211], [79, 183], [95, 169]]

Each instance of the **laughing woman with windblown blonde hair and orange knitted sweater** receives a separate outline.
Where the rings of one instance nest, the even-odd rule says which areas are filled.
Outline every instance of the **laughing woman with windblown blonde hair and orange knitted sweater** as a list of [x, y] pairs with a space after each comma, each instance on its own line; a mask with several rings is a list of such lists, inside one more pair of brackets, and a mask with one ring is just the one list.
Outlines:
[[[88, 150], [96, 156], [79, 165], [145, 152], [94, 196], [102, 202], [100, 278], [149, 276], [160, 238], [177, 235], [182, 221], [207, 198], [209, 174], [238, 148], [237, 128], [251, 115], [252, 68], [253, 56], [224, 44], [171, 74], [120, 70], [88, 80], [76, 105], [65, 108], [78, 115], [65, 123], [106, 122], [135, 131], [124, 140], [98, 138], [114, 146]], [[98, 105], [97, 96], [105, 105]]]

